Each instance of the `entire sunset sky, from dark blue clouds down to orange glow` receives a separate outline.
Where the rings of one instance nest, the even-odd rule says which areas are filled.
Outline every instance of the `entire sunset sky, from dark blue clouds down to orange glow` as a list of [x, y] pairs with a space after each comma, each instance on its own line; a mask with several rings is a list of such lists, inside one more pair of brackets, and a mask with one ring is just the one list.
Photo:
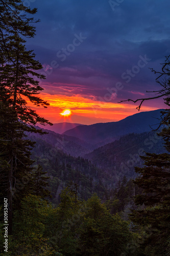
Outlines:
[[[170, 54], [168, 0], [25, 2], [41, 19], [27, 41], [46, 75], [41, 97], [50, 106], [36, 109], [41, 116], [54, 123], [118, 121], [138, 112], [137, 104], [120, 100], [160, 88], [149, 68], [159, 71]], [[163, 99], [145, 102], [141, 111], [160, 108]], [[60, 114], [65, 110], [71, 115]]]

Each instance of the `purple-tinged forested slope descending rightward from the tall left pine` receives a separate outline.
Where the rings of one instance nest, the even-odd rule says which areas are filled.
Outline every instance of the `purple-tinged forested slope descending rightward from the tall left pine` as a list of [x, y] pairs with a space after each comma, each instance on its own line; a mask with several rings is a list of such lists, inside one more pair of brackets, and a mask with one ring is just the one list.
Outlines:
[[36, 142], [32, 150], [32, 159], [35, 164], [40, 164], [50, 177], [52, 202], [59, 202], [61, 190], [70, 182], [79, 186], [79, 196], [82, 199], [88, 199], [93, 193], [106, 199], [106, 187], [110, 180], [102, 169], [95, 167], [87, 159], [67, 155], [42, 139], [36, 139]]

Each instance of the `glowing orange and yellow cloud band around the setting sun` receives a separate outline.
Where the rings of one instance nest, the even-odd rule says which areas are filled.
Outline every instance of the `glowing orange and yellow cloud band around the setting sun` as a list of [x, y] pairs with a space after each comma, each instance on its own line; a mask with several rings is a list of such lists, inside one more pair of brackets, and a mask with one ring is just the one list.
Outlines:
[[[41, 93], [39, 96], [50, 103], [50, 106], [48, 106], [47, 109], [35, 107], [31, 102], [28, 102], [28, 105], [36, 110], [40, 116], [53, 123], [63, 121], [83, 123], [83, 120], [84, 124], [111, 122], [121, 120], [138, 112], [135, 109], [135, 105], [130, 103], [94, 101], [80, 95], [69, 97]], [[61, 116], [60, 113], [67, 109], [71, 111], [72, 115], [67, 117]], [[156, 109], [157, 108], [152, 106], [143, 105], [142, 107], [142, 111], [151, 111]]]

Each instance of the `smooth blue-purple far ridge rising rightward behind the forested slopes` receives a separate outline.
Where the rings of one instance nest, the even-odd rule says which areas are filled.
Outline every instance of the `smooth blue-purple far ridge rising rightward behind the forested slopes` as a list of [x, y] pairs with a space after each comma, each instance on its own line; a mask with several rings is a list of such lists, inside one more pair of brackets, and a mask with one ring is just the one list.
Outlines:
[[63, 134], [95, 144], [97, 148], [126, 134], [152, 131], [158, 127], [160, 111], [140, 112], [117, 122], [81, 125]]

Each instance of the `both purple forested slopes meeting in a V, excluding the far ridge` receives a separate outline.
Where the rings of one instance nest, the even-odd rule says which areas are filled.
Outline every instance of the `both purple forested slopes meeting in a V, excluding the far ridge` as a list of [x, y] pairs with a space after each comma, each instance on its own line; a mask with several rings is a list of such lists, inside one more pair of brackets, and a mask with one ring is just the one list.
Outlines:
[[[154, 131], [126, 135], [86, 155], [81, 146], [72, 143], [70, 147], [70, 137], [64, 140], [63, 135], [45, 131], [49, 133], [43, 136], [28, 135], [31, 140], [36, 141], [32, 159], [50, 177], [51, 201], [54, 203], [59, 202], [60, 192], [69, 182], [79, 185], [82, 199], [88, 199], [95, 192], [106, 200], [110, 191], [116, 188], [124, 176], [127, 180], [136, 177], [135, 166], [143, 165], [140, 155], [145, 155], [144, 152], [166, 152], [163, 140]], [[71, 139], [83, 143], [77, 138]]]

